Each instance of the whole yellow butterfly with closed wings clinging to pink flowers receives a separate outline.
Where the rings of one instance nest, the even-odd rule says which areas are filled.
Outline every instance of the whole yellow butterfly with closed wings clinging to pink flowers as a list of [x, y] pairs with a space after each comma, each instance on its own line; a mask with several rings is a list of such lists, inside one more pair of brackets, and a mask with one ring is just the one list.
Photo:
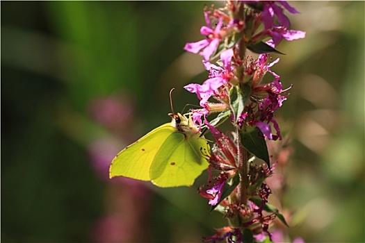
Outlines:
[[190, 117], [180, 113], [169, 116], [171, 123], [155, 128], [115, 156], [110, 178], [152, 181], [159, 187], [193, 185], [208, 167], [209, 144]]

